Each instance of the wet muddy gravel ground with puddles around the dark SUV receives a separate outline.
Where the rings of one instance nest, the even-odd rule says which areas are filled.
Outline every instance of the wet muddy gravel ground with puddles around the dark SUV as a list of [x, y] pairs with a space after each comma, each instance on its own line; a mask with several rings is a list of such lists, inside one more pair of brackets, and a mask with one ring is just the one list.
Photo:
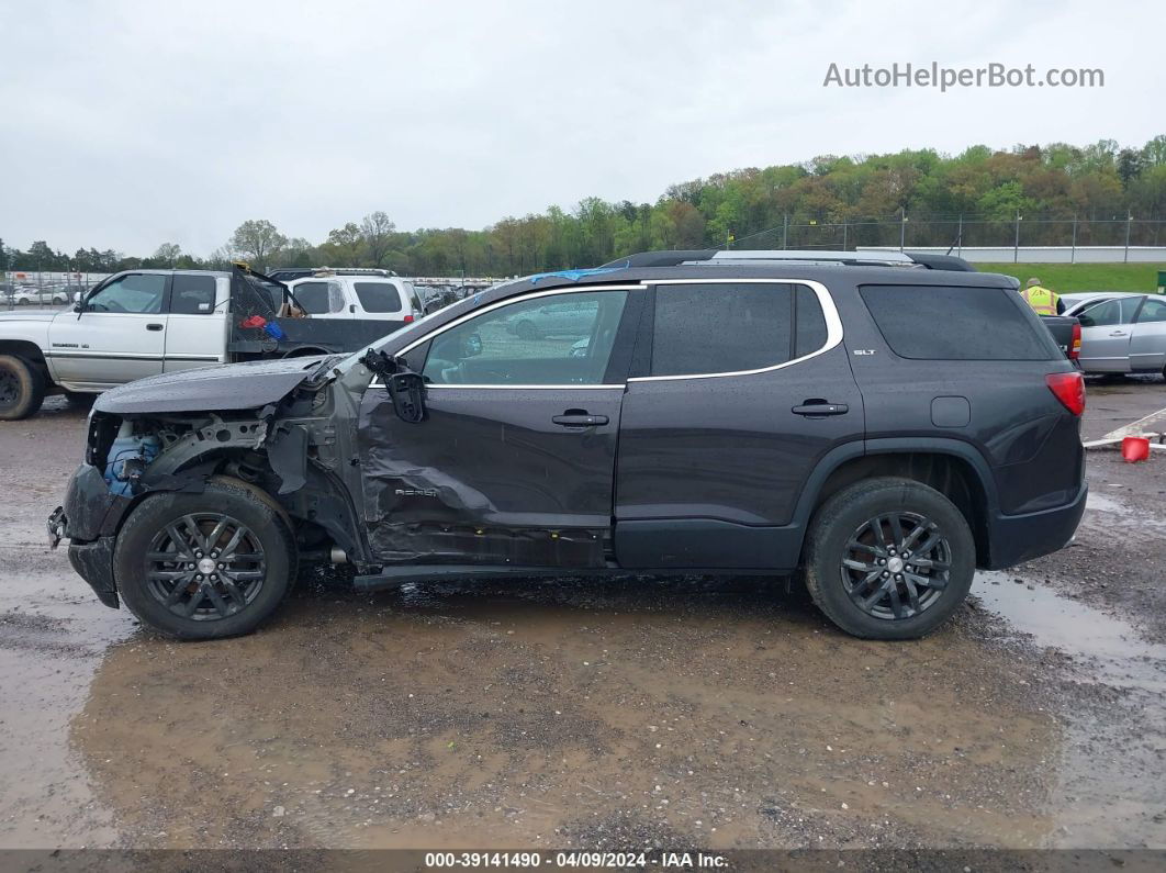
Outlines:
[[781, 582], [309, 576], [175, 645], [44, 544], [83, 425], [0, 423], [0, 847], [1166, 847], [1166, 456], [1090, 453], [1077, 542], [914, 643]]

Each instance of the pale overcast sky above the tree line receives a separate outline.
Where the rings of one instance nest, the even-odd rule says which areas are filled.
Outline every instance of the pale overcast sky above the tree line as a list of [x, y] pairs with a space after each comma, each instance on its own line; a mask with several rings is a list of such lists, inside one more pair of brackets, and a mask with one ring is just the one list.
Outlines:
[[[298, 7], [298, 8], [297, 8]], [[206, 254], [385, 210], [484, 227], [821, 154], [1166, 132], [1166, 3], [0, 0], [0, 238]], [[823, 87], [1102, 68], [1091, 90]]]

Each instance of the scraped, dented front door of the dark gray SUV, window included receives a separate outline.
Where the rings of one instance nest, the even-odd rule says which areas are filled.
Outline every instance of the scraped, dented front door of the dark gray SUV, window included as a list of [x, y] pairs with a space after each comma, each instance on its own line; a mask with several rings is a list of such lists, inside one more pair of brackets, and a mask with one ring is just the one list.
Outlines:
[[[642, 289], [555, 290], [464, 316], [405, 350], [426, 418], [365, 393], [360, 464], [370, 543], [401, 562], [603, 566], [620, 404]], [[585, 317], [548, 336], [570, 302]]]

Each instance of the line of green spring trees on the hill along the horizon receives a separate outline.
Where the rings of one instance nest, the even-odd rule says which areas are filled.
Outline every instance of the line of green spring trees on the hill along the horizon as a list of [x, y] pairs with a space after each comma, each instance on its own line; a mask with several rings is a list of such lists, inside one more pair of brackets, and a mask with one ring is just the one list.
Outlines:
[[[911, 242], [948, 245], [953, 227], [1027, 221], [1025, 245], [1067, 244], [1074, 221], [1079, 245], [1091, 239], [1088, 223], [1166, 220], [1166, 135], [1140, 148], [1112, 140], [1090, 146], [1016, 146], [992, 150], [972, 146], [958, 155], [933, 149], [895, 154], [822, 155], [799, 164], [749, 168], [672, 185], [655, 203], [607, 202], [588, 197], [566, 211], [550, 206], [521, 218], [508, 216], [480, 231], [458, 227], [399, 231], [385, 212], [332, 230], [312, 245], [290, 238], [265, 219], [244, 221], [220, 248], [205, 256], [163, 244], [149, 256], [80, 248], [73, 254], [44, 240], [28, 249], [5, 248], [0, 269], [108, 273], [138, 267], [222, 268], [245, 260], [257, 268], [381, 267], [402, 275], [515, 275], [586, 267], [633, 252], [705, 248], [733, 244], [799, 247], [894, 245], [894, 221], [912, 221]], [[1076, 238], [1077, 221], [1084, 238]], [[1044, 223], [1044, 224], [1042, 224]], [[789, 227], [801, 233], [791, 240]], [[843, 228], [838, 238], [836, 230]], [[1166, 233], [1153, 244], [1166, 244]], [[964, 245], [986, 245], [964, 239]], [[1151, 240], [1136, 240], [1150, 242]], [[999, 245], [992, 241], [991, 245]]]

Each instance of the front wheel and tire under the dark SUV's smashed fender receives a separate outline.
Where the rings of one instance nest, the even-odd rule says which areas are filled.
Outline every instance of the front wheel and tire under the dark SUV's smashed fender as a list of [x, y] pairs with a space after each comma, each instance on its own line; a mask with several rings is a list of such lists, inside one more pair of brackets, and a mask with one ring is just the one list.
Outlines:
[[[226, 552], [232, 541], [238, 544], [230, 554], [216, 555], [216, 545]], [[189, 559], [155, 559], [169, 554]], [[142, 500], [118, 534], [113, 575], [146, 627], [175, 640], [217, 640], [251, 633], [275, 613], [292, 589], [296, 558], [292, 530], [272, 502], [211, 481], [202, 494]]]

